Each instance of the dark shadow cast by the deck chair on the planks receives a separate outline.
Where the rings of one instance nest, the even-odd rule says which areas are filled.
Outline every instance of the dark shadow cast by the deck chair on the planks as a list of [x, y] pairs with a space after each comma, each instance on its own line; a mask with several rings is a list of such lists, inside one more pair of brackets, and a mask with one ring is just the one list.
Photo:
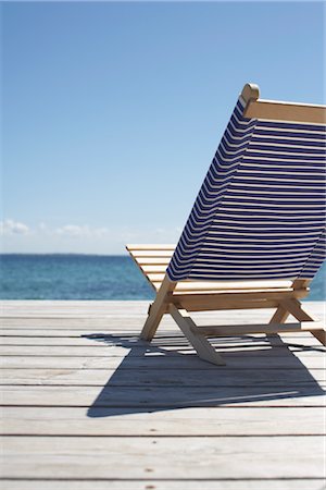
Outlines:
[[179, 334], [161, 333], [151, 343], [133, 334], [83, 336], [126, 348], [126, 356], [89, 407], [89, 417], [258, 402], [275, 405], [285, 399], [293, 405], [292, 399], [325, 393], [296, 356], [324, 348], [301, 345], [300, 338], [296, 344], [285, 343], [279, 335], [218, 339], [216, 346], [227, 363], [221, 367], [192, 354]]

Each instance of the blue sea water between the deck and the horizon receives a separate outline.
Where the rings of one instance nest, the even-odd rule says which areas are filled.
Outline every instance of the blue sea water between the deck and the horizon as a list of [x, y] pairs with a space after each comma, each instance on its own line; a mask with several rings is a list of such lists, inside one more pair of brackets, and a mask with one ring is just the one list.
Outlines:
[[[0, 255], [0, 299], [152, 299], [152, 287], [128, 256]], [[326, 298], [326, 264], [309, 301]]]

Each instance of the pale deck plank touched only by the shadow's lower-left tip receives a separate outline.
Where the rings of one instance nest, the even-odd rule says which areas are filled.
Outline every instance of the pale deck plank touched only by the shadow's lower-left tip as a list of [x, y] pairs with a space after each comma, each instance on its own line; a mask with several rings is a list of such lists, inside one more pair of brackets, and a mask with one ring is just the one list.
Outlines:
[[[176, 411], [126, 413], [93, 409], [87, 419], [82, 407], [3, 407], [4, 436], [321, 436], [325, 434], [324, 407], [197, 407]], [[196, 424], [193, 422], [196, 420]], [[208, 430], [208, 424], [210, 430]]]

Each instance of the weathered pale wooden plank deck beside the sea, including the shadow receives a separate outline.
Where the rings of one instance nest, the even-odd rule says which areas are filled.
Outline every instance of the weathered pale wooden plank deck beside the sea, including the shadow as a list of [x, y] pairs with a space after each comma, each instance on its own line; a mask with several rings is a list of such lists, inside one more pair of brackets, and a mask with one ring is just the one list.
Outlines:
[[[325, 357], [311, 334], [221, 339], [216, 367], [170, 318], [138, 341], [147, 302], [0, 306], [3, 490], [325, 489]], [[322, 303], [306, 309], [323, 318]]]

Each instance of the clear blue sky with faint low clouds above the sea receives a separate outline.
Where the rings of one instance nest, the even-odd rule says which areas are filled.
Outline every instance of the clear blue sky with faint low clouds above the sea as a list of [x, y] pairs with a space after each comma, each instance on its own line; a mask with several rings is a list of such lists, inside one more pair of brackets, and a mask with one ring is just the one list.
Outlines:
[[5, 253], [175, 243], [247, 82], [325, 103], [322, 2], [3, 2]]

